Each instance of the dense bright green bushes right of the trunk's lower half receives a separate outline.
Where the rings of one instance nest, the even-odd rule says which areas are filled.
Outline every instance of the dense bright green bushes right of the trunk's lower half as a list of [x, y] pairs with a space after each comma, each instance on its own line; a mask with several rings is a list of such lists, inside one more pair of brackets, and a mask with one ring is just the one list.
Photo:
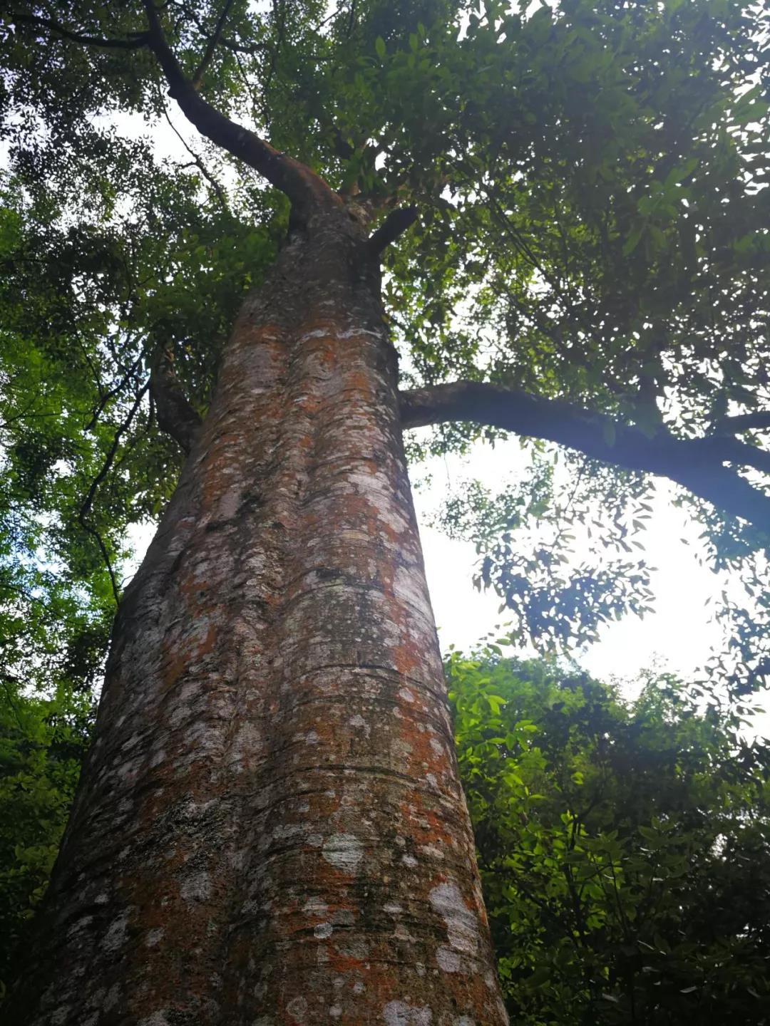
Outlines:
[[512, 1021], [767, 1022], [770, 762], [739, 717], [497, 645], [448, 672]]

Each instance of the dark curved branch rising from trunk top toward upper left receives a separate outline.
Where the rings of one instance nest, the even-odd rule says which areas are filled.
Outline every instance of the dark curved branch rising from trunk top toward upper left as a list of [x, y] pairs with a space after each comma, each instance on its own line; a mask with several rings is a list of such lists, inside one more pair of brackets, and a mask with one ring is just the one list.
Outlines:
[[300, 209], [317, 205], [339, 206], [341, 200], [321, 177], [293, 157], [279, 153], [265, 140], [243, 128], [202, 98], [182, 72], [170, 46], [165, 41], [158, 11], [152, 0], [144, 0], [150, 26], [148, 45], [158, 60], [168, 92], [177, 101], [182, 113], [198, 131], [234, 157], [243, 160], [267, 181], [280, 189]]

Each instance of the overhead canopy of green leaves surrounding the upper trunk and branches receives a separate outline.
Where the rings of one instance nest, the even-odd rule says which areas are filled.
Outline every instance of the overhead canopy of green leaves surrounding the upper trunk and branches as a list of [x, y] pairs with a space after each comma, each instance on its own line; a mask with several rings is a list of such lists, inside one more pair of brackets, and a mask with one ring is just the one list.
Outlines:
[[[767, 413], [762, 5], [169, 0], [160, 16], [200, 95], [351, 209], [376, 223], [417, 206], [385, 256], [406, 384], [489, 381], [650, 437]], [[288, 213], [179, 127], [146, 31], [132, 0], [18, 0], [0, 23], [4, 552], [54, 565], [84, 616], [119, 595], [127, 528], [157, 518], [179, 471], [148, 393], [154, 357], [172, 354], [204, 412]], [[760, 485], [766, 431], [741, 429]], [[456, 424], [427, 447], [485, 433]], [[545, 487], [541, 452], [529, 491], [475, 509], [478, 580], [523, 635], [569, 647], [650, 604], [636, 525], [649, 481], [570, 459]], [[682, 501], [715, 561], [755, 579], [754, 603], [725, 603], [737, 641], [715, 664], [750, 689], [765, 675], [766, 536]], [[576, 561], [576, 524], [611, 558]]]

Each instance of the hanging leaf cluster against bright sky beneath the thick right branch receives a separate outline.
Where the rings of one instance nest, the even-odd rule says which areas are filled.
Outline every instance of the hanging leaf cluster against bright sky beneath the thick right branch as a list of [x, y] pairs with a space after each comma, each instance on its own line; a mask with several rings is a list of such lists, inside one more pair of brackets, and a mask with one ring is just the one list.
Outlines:
[[[537, 638], [548, 648], [598, 640], [600, 624], [651, 608], [639, 541], [652, 509], [648, 483], [614, 473], [612, 505], [605, 502], [600, 514], [598, 500], [610, 482], [601, 468], [582, 463], [567, 490], [559, 487], [554, 464], [536, 450], [515, 486], [493, 496], [471, 482], [440, 512], [450, 537], [475, 543], [483, 559], [474, 583], [494, 586], [504, 599], [514, 617], [512, 636]], [[589, 549], [578, 562], [570, 557], [581, 528]]]

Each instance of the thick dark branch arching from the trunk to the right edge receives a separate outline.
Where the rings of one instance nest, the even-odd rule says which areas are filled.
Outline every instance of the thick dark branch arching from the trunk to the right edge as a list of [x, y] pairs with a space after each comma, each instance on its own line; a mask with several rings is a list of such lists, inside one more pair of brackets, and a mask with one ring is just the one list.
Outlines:
[[626, 470], [668, 477], [732, 516], [770, 531], [770, 497], [724, 461], [770, 472], [768, 453], [722, 438], [680, 439], [661, 429], [649, 437], [604, 413], [483, 382], [455, 382], [402, 392], [401, 423], [416, 428], [471, 421], [543, 438]]

